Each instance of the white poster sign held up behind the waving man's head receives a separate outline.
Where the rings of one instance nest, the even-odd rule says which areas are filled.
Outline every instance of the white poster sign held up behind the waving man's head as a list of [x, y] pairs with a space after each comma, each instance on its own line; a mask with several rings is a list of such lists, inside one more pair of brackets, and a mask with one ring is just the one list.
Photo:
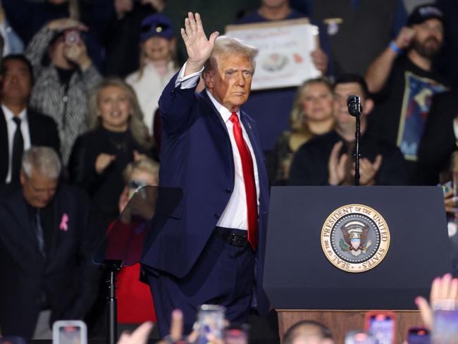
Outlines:
[[318, 47], [318, 27], [307, 18], [228, 25], [225, 30], [259, 49], [252, 90], [296, 87], [321, 75], [310, 56]]

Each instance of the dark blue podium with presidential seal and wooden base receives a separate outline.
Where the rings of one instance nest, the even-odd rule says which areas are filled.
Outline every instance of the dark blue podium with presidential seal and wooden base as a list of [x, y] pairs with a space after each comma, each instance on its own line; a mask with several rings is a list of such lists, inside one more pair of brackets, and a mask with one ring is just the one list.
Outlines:
[[[339, 269], [322, 249], [324, 223], [347, 204], [375, 210], [389, 228], [385, 257], [361, 273]], [[342, 216], [333, 231], [347, 228], [349, 221]], [[335, 235], [333, 240], [342, 242]], [[345, 242], [336, 245], [337, 250], [343, 250], [342, 245]], [[440, 188], [272, 188], [264, 289], [278, 312], [280, 338], [295, 322], [309, 319], [328, 326], [335, 342], [343, 343], [345, 333], [364, 329], [365, 312], [383, 309], [397, 314], [402, 343], [409, 327], [421, 326], [415, 297], [429, 297], [433, 278], [450, 272], [449, 252]]]

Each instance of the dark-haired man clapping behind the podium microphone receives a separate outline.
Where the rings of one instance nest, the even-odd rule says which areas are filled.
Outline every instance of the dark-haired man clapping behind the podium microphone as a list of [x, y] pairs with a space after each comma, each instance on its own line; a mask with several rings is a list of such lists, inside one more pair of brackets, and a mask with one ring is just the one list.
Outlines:
[[400, 150], [377, 136], [367, 125], [373, 109], [366, 82], [359, 75], [340, 76], [334, 85], [335, 130], [300, 147], [292, 161], [289, 185], [353, 185], [356, 118], [347, 109], [347, 97], [361, 97], [360, 185], [404, 185], [407, 171]]

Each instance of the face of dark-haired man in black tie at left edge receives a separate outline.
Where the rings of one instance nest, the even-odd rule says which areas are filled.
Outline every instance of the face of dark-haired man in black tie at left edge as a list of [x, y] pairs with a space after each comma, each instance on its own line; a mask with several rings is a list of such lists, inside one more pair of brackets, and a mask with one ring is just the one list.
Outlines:
[[1, 82], [3, 102], [27, 103], [32, 90], [32, 75], [27, 65], [20, 60], [4, 61], [4, 75]]

